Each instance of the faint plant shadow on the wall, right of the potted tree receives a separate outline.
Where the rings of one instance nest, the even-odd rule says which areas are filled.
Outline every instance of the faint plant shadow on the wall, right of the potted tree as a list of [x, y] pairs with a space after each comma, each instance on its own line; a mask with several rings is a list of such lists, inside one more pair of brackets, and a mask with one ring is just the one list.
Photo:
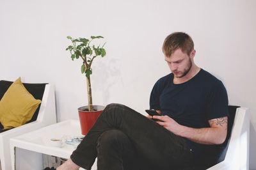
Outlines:
[[92, 86], [95, 88], [95, 91], [100, 90], [103, 92], [103, 102], [106, 104], [109, 100], [109, 90], [111, 87], [118, 83], [121, 83], [122, 86], [124, 86], [120, 72], [121, 63], [120, 59], [111, 58], [107, 61], [97, 61], [97, 65], [97, 67], [93, 68], [93, 72], [97, 72], [95, 75], [100, 76], [95, 76], [92, 78], [93, 83], [95, 83], [95, 85], [97, 83], [96, 86]]

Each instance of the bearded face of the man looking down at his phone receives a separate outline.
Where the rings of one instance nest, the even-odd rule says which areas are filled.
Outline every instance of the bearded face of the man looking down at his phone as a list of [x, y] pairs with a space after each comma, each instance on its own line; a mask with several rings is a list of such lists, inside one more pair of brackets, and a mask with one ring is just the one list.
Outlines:
[[165, 56], [164, 59], [175, 78], [184, 77], [192, 66], [191, 58], [181, 49], [175, 50], [171, 56]]

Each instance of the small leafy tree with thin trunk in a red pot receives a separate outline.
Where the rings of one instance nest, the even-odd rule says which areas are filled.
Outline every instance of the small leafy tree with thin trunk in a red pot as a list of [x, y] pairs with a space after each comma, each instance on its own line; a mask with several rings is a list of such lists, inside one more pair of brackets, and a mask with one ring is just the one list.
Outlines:
[[70, 51], [72, 61], [79, 58], [83, 61], [81, 73], [84, 73], [86, 77], [88, 105], [79, 107], [78, 112], [82, 134], [86, 135], [104, 109], [103, 106], [92, 104], [92, 85], [90, 75], [92, 75], [93, 59], [97, 56], [101, 56], [102, 58], [106, 56], [106, 50], [103, 48], [106, 42], [102, 46], [91, 45], [93, 40], [104, 38], [103, 36], [91, 36], [90, 39], [74, 39], [71, 36], [67, 36], [67, 38], [72, 42], [72, 45], [69, 45], [66, 49]]

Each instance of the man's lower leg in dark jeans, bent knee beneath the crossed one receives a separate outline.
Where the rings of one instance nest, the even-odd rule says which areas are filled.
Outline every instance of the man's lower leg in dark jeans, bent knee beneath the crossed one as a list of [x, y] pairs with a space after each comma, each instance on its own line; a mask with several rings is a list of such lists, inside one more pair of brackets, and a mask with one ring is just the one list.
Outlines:
[[107, 130], [97, 141], [98, 170], [136, 170], [140, 161], [130, 139], [121, 130]]

